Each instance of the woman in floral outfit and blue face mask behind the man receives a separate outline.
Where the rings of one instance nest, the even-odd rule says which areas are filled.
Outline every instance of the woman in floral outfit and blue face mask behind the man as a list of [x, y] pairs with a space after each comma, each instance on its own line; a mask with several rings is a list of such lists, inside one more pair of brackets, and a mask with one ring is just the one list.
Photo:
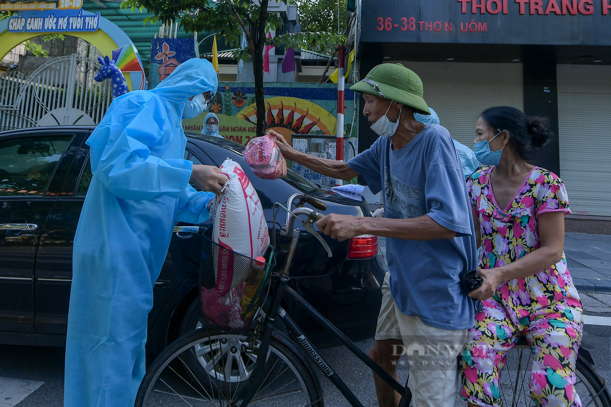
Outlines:
[[470, 406], [500, 406], [500, 370], [525, 337], [532, 398], [544, 407], [580, 407], [582, 306], [563, 251], [568, 197], [557, 175], [526, 162], [549, 138], [546, 122], [500, 106], [482, 112], [475, 131], [478, 159], [491, 166], [467, 182], [484, 281], [469, 293], [483, 302], [463, 351], [461, 395]]

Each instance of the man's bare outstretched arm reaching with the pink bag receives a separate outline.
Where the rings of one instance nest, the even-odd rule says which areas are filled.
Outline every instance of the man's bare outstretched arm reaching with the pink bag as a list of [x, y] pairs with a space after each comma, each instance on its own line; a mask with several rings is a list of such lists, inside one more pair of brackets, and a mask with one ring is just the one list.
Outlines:
[[293, 149], [290, 144], [276, 131], [269, 130], [270, 136], [276, 139], [276, 144], [284, 155], [284, 158], [308, 167], [309, 169], [318, 172], [318, 174], [326, 175], [331, 178], [339, 178], [340, 180], [351, 180], [359, 175], [343, 161], [327, 160], [326, 158], [317, 158], [305, 153], [298, 152]]

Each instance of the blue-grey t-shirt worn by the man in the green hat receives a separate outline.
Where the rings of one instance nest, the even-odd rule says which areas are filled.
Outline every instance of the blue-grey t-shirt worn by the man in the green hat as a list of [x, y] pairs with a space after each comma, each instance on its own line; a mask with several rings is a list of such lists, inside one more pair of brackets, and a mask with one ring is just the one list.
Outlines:
[[384, 216], [428, 215], [456, 237], [429, 241], [386, 239], [390, 291], [406, 315], [434, 328], [457, 331], [474, 326], [475, 309], [459, 285], [459, 273], [476, 270], [475, 230], [461, 161], [450, 133], [426, 125], [403, 149], [390, 138], [348, 161], [371, 192], [382, 191]]

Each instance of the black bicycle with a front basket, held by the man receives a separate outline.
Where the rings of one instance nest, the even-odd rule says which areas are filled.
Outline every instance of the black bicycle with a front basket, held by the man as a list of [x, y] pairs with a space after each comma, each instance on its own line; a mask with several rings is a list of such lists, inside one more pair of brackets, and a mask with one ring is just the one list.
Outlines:
[[[292, 209], [297, 199], [299, 202], [296, 208]], [[305, 208], [303, 206], [305, 203], [316, 210]], [[323, 217], [320, 211], [326, 210], [326, 205], [304, 194], [295, 194], [288, 200], [287, 207], [286, 222], [280, 234], [290, 238], [290, 245], [282, 270], [276, 273], [271, 273], [275, 265], [273, 249], [268, 250], [266, 254], [268, 260], [262, 263], [221, 248], [211, 241], [203, 244], [200, 300], [202, 303], [207, 301], [207, 307], [201, 312], [202, 326], [175, 340], [150, 365], [139, 387], [136, 407], [180, 405], [323, 407], [323, 392], [315, 372], [316, 368], [320, 369], [337, 387], [351, 406], [362, 407], [362, 403], [338, 373], [320, 356], [293, 318], [282, 308], [281, 301], [285, 296], [295, 301], [310, 317], [392, 386], [401, 395], [400, 407], [409, 406], [411, 391], [407, 383], [403, 386], [395, 381], [298, 293], [287, 286], [290, 279], [290, 265], [300, 234], [300, 230], [295, 228], [298, 216], [307, 216], [305, 220], [300, 219], [304, 229], [323, 244], [329, 257], [332, 255], [329, 246], [313, 229], [314, 222]], [[175, 232], [203, 233], [205, 230], [200, 227], [175, 227]], [[205, 288], [213, 287], [215, 283], [218, 288], [218, 280], [213, 281], [210, 270], [221, 273], [219, 270], [227, 262], [219, 263], [219, 259], [223, 261], [231, 259], [232, 287], [236, 282], [240, 282], [236, 287], [244, 287], [243, 292], [246, 292], [245, 287], [248, 284], [247, 281], [242, 281], [243, 273], [258, 276], [255, 279], [258, 284], [257, 291], [251, 290], [246, 298], [247, 301], [244, 301], [244, 296], [241, 297], [240, 304], [243, 306], [241, 314], [234, 312], [233, 319], [223, 319], [218, 313], [215, 314], [218, 309], [215, 310], [214, 303], [212, 310], [210, 309], [212, 288]], [[215, 274], [214, 279], [216, 277], [218, 273]], [[229, 326], [230, 324], [233, 325]], [[266, 355], [265, 362], [263, 362], [264, 358], [260, 357], [263, 354]], [[535, 405], [528, 397], [529, 389], [526, 387], [530, 370], [530, 362], [525, 360], [530, 359], [526, 358], [527, 355], [530, 355], [530, 348], [522, 342], [508, 354], [507, 364], [503, 369], [505, 376], [502, 375], [501, 378], [501, 393], [505, 406]], [[592, 404], [596, 407], [611, 407], [609, 391], [604, 380], [594, 369], [593, 361], [587, 351], [579, 353], [577, 376], [579, 383], [576, 389], [584, 402], [582, 407]]]

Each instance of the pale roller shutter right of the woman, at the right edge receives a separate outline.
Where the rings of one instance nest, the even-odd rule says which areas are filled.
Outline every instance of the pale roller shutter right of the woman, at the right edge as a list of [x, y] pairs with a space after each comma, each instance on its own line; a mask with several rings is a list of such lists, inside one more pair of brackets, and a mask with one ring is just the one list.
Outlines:
[[611, 67], [558, 65], [560, 177], [576, 215], [611, 216]]

